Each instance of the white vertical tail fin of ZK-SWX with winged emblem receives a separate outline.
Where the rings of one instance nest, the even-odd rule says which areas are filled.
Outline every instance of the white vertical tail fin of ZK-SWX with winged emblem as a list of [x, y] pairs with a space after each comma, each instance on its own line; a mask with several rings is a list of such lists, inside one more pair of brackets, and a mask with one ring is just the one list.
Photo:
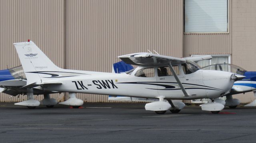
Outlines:
[[24, 69], [27, 85], [42, 82], [40, 73], [46, 71], [60, 71], [52, 61], [32, 41], [14, 43], [20, 62]]

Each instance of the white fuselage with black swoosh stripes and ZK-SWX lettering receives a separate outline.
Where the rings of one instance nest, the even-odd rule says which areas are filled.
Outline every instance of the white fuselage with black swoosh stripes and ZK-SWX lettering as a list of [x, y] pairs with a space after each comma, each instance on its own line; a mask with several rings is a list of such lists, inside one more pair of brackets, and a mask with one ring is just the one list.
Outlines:
[[[164, 75], [160, 70], [168, 67], [140, 66], [131, 72], [115, 74], [83, 71], [85, 75], [57, 78], [47, 82], [61, 82], [61, 85], [37, 87], [46, 91], [105, 94], [142, 98], [201, 99], [217, 98], [228, 94], [233, 86], [232, 73], [197, 69], [185, 71], [185, 65], [174, 65], [182, 85], [190, 95], [184, 97], [174, 76]], [[77, 72], [69, 70], [70, 72]], [[169, 72], [169, 70], [167, 71]]]

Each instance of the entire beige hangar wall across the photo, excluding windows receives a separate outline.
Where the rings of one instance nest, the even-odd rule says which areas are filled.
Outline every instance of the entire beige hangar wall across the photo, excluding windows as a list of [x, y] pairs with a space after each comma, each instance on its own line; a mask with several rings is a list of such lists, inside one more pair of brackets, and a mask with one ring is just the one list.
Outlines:
[[[0, 69], [20, 65], [12, 43], [31, 39], [67, 69], [111, 72], [118, 55], [149, 49], [174, 57], [228, 54], [234, 64], [256, 71], [250, 66], [256, 60], [255, 2], [229, 1], [229, 33], [186, 34], [183, 0], [0, 0]], [[25, 98], [0, 94], [4, 102]], [[102, 95], [78, 98], [108, 102]]]

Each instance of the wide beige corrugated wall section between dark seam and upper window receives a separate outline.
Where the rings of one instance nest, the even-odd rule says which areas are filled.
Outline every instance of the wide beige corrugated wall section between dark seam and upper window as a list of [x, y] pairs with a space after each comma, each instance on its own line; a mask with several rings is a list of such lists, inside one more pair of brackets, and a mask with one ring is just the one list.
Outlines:
[[[111, 72], [117, 57], [156, 50], [182, 57], [182, 0], [67, 0], [67, 68]], [[78, 94], [87, 102], [108, 96]]]

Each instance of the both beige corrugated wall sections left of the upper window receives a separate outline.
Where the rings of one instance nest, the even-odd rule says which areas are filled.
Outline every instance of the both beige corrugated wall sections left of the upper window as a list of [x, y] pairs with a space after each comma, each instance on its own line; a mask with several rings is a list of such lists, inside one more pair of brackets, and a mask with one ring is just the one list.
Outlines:
[[[111, 72], [118, 55], [147, 49], [182, 57], [182, 11], [180, 0], [1, 0], [0, 68], [20, 65], [12, 43], [27, 39], [67, 69]], [[102, 95], [78, 98], [108, 101]]]

